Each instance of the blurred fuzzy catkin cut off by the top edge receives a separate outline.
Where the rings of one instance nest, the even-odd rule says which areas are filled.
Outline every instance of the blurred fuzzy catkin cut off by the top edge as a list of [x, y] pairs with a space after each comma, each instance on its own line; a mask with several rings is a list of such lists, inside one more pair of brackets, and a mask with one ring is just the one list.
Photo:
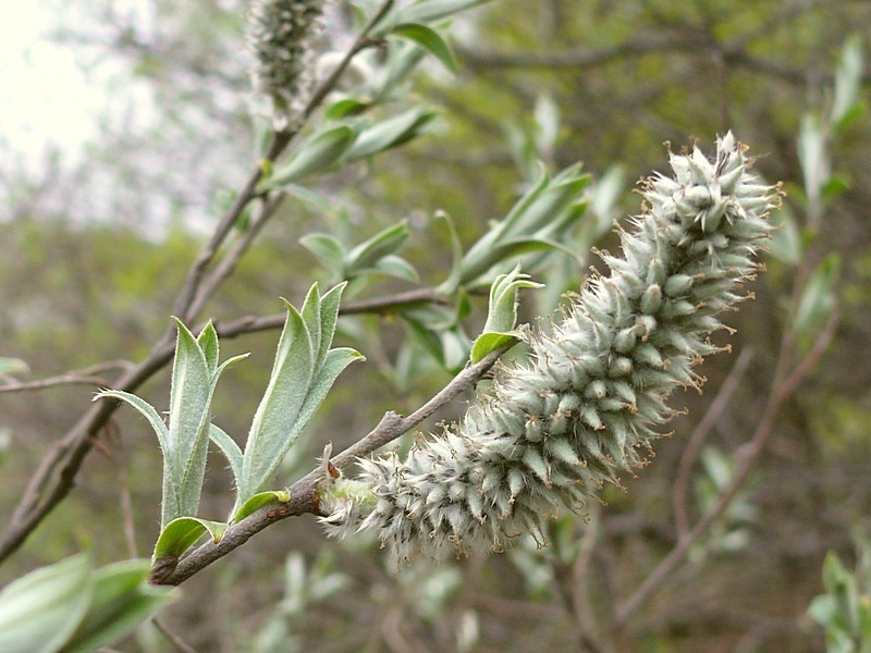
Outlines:
[[247, 42], [252, 84], [267, 98], [277, 128], [287, 126], [311, 85], [311, 40], [323, 0], [254, 0]]

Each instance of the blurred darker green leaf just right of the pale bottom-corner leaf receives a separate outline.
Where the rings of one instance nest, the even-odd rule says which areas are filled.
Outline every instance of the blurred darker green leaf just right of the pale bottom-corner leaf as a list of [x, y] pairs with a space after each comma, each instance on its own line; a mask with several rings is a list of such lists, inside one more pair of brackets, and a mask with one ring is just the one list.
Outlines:
[[179, 595], [175, 588], [147, 582], [148, 560], [115, 563], [94, 572], [94, 597], [66, 643], [69, 653], [89, 653], [132, 631]]

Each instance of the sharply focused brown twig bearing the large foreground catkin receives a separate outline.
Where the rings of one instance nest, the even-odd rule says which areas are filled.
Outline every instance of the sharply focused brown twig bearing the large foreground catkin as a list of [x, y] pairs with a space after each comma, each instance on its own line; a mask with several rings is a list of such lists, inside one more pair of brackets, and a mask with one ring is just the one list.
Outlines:
[[[488, 354], [480, 362], [466, 367], [434, 397], [415, 410], [408, 417], [390, 411], [381, 419], [378, 426], [363, 440], [347, 447], [331, 459], [336, 467], [347, 467], [360, 456], [371, 454], [381, 446], [393, 442], [400, 435], [416, 428], [420, 422], [430, 417], [442, 406], [449, 404], [459, 394], [474, 386], [493, 367], [499, 358], [511, 349], [513, 344], [506, 344]], [[318, 514], [318, 483], [323, 478], [323, 467], [310, 471], [296, 481], [290, 489], [290, 498], [283, 504], [265, 506], [246, 517], [238, 523], [231, 525], [224, 532], [221, 541], [206, 542], [177, 565], [168, 560], [165, 566], [152, 569], [150, 582], [155, 584], [177, 586], [201, 571], [213, 562], [222, 558], [231, 551], [247, 542], [253, 535], [265, 528], [286, 519], [298, 517], [307, 513]], [[279, 506], [277, 508], [277, 506]]]

